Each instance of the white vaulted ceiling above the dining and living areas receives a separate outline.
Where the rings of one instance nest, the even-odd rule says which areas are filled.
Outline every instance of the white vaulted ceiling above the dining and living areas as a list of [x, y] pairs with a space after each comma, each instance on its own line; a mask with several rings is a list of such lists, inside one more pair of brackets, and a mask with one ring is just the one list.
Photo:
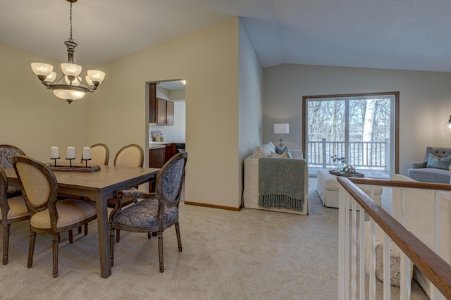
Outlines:
[[[66, 0], [1, 0], [0, 43], [66, 61], [69, 13]], [[75, 63], [92, 68], [234, 16], [265, 68], [451, 72], [450, 0], [79, 0]]]

